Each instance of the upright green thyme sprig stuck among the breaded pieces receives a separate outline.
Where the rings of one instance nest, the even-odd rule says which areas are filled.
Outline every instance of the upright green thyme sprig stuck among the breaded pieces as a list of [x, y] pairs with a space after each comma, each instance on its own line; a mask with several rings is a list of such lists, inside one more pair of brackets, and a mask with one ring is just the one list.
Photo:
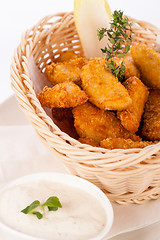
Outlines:
[[[124, 16], [121, 10], [114, 11], [112, 17], [110, 29], [98, 29], [97, 35], [99, 40], [108, 36], [109, 44], [101, 51], [105, 55], [106, 65], [111, 73], [120, 82], [123, 82], [125, 73], [124, 57], [130, 50], [132, 42], [132, 23], [129, 23], [128, 17]], [[114, 57], [123, 58], [120, 66], [114, 61]]]

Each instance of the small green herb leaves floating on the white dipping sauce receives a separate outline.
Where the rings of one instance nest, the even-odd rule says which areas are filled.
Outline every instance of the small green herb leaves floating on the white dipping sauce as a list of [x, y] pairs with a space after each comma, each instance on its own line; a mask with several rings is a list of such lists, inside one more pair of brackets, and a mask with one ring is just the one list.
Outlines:
[[[37, 207], [40, 207], [42, 209], [42, 213], [39, 211], [35, 211]], [[43, 204], [40, 204], [38, 200], [32, 202], [21, 212], [23, 212], [24, 214], [34, 214], [38, 219], [41, 219], [45, 214], [45, 207], [48, 207], [49, 211], [57, 211], [58, 208], [62, 208], [62, 205], [57, 197], [50, 197]]]

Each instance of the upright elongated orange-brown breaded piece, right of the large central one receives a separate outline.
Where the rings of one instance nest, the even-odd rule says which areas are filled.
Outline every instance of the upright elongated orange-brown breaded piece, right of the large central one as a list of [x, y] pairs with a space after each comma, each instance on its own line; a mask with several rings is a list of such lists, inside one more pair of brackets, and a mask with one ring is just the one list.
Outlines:
[[137, 77], [128, 78], [123, 85], [132, 99], [132, 104], [127, 109], [118, 112], [117, 116], [125, 129], [131, 132], [137, 132], [149, 92]]

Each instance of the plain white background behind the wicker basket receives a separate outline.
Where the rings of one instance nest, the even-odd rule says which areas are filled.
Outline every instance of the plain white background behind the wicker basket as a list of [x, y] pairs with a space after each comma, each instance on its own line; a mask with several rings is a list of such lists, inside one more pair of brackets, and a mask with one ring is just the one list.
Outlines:
[[[112, 11], [123, 10], [134, 18], [160, 28], [159, 0], [108, 0]], [[0, 7], [0, 103], [13, 94], [10, 87], [10, 64], [16, 46], [25, 30], [42, 17], [73, 11], [74, 0], [5, 0]]]

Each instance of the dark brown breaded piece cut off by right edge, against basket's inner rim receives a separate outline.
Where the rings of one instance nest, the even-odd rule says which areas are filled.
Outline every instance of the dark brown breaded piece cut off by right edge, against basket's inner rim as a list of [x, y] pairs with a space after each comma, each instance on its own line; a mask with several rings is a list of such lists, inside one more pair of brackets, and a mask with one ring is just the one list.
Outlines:
[[142, 134], [149, 140], [160, 140], [160, 90], [150, 90], [146, 103]]

